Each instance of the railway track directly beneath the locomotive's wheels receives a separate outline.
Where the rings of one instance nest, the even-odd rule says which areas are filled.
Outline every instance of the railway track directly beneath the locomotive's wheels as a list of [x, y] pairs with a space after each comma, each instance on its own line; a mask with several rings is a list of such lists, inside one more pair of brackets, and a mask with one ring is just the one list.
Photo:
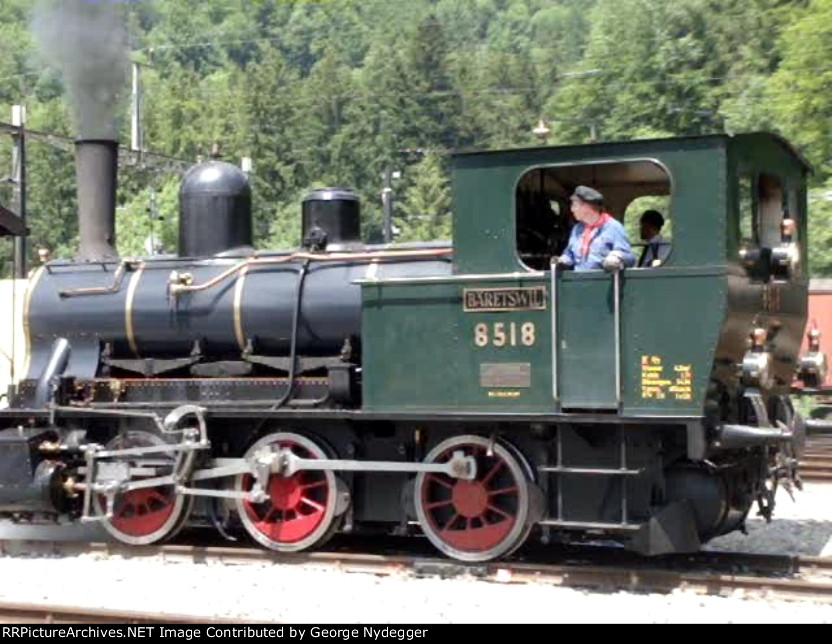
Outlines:
[[[33, 542], [34, 543], [34, 542]], [[30, 544], [31, 545], [31, 544]], [[501, 584], [552, 584], [595, 592], [670, 593], [687, 590], [704, 595], [813, 601], [832, 604], [832, 558], [701, 552], [645, 559], [616, 548], [565, 547], [526, 553], [527, 559], [465, 564], [412, 554], [308, 552], [281, 554], [247, 547], [165, 545], [128, 548], [119, 544], [41, 543], [39, 552], [102, 558], [161, 558], [170, 563], [273, 563], [327, 567], [344, 573], [380, 576], [474, 578]], [[31, 549], [27, 550], [27, 553]], [[543, 552], [543, 551], [541, 551]], [[2, 617], [2, 607], [0, 607]], [[131, 619], [141, 619], [142, 616]], [[153, 621], [153, 617], [150, 621]], [[165, 616], [174, 623], [177, 616]], [[200, 620], [205, 623], [204, 620]], [[179, 622], [183, 623], [183, 622]]]

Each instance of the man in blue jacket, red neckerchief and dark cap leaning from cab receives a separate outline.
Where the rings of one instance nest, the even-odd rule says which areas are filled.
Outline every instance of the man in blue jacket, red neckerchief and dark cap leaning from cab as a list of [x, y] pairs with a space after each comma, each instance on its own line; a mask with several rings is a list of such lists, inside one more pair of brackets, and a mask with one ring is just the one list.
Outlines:
[[576, 224], [566, 250], [558, 258], [563, 269], [618, 271], [634, 266], [635, 255], [624, 226], [603, 208], [603, 195], [587, 186], [572, 193], [572, 214]]

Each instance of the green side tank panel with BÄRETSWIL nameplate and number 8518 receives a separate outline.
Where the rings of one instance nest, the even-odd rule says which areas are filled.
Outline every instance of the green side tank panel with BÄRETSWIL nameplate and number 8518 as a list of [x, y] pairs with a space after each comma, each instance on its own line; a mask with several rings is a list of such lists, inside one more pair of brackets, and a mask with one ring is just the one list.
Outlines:
[[[530, 280], [363, 287], [364, 407], [550, 410], [551, 345], [548, 306], [543, 311], [465, 312], [463, 292], [526, 287]], [[545, 285], [544, 280], [536, 282]], [[481, 344], [477, 343], [478, 325]], [[502, 325], [502, 326], [499, 326]], [[533, 337], [528, 335], [533, 325]], [[489, 365], [522, 371], [529, 386], [482, 387]], [[521, 383], [522, 384], [522, 383]]]

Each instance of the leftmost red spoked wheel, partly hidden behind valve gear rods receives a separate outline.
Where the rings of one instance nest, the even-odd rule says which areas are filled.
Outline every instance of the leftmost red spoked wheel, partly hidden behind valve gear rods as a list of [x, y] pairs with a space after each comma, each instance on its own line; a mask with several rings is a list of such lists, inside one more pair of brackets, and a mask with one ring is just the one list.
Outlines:
[[[150, 447], [164, 445], [165, 442], [155, 434], [131, 431], [111, 440], [107, 449], [126, 449], [130, 447]], [[173, 471], [175, 456], [157, 452], [146, 457], [134, 457], [134, 462], [152, 461], [170, 463], [169, 467], [156, 466], [157, 476], [165, 476]], [[95, 498], [96, 511], [104, 514], [107, 500], [104, 495]], [[115, 497], [113, 517], [102, 523], [104, 529], [117, 540], [134, 546], [158, 543], [170, 539], [187, 523], [193, 508], [193, 497], [177, 494], [173, 485], [140, 488], [130, 490]]]

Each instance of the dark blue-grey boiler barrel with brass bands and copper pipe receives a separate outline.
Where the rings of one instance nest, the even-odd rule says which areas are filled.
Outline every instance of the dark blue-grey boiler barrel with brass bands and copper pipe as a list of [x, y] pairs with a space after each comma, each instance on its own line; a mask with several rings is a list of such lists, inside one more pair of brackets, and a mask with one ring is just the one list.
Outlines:
[[[203, 284], [239, 265], [239, 258], [154, 260], [128, 271], [117, 289], [104, 294], [65, 293], [114, 284], [117, 264], [50, 265], [37, 276], [29, 297], [32, 359], [26, 377], [37, 378], [49, 360], [55, 337], [72, 347], [67, 376], [97, 374], [105, 344], [112, 358], [184, 358], [199, 342], [204, 361], [240, 359], [247, 345], [255, 354], [287, 356], [301, 264], [249, 265], [215, 286], [172, 296], [173, 271]], [[443, 259], [312, 262], [305, 275], [298, 324], [301, 356], [338, 355], [348, 338], [361, 335], [361, 287], [375, 276], [448, 275]]]

